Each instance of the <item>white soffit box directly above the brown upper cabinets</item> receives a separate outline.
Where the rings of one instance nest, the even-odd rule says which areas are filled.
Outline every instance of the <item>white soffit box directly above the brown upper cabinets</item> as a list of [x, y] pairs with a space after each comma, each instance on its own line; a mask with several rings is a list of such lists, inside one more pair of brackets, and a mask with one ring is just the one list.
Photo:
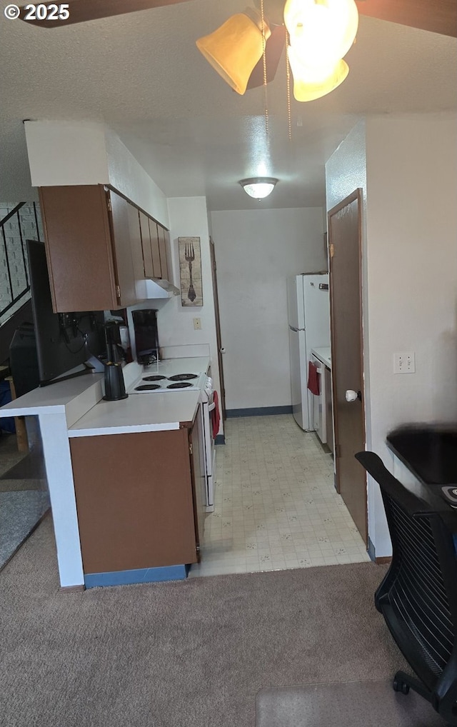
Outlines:
[[168, 228], [166, 196], [121, 140], [89, 121], [25, 121], [35, 187], [110, 184]]

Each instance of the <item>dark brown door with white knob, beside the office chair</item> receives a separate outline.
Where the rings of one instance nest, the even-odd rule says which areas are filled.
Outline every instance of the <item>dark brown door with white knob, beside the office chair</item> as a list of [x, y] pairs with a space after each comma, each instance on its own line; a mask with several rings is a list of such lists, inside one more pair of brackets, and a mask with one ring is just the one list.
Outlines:
[[355, 190], [328, 212], [328, 233], [336, 489], [366, 544], [366, 480], [354, 457], [365, 449], [360, 200]]

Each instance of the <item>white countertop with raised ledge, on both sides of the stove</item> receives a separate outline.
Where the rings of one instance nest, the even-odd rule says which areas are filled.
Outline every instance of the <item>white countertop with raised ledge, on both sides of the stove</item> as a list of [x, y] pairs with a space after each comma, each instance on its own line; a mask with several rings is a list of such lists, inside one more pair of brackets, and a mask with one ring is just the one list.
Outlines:
[[[126, 388], [139, 374], [198, 374], [207, 371], [209, 356], [172, 358], [142, 367], [124, 367]], [[180, 422], [192, 422], [200, 398], [199, 391], [176, 390], [166, 393], [132, 394], [121, 401], [104, 401], [103, 374], [86, 374], [46, 387], [33, 389], [7, 403], [0, 417], [65, 412], [68, 436], [129, 433], [179, 429]]]

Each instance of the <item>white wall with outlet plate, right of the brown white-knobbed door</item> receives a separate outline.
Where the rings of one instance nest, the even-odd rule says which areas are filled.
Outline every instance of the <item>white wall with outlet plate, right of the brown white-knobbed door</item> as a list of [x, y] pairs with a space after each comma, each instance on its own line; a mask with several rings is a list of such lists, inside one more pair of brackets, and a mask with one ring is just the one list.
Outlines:
[[[328, 207], [363, 185], [365, 148], [367, 446], [392, 470], [393, 427], [457, 417], [456, 114], [368, 119], [325, 166]], [[416, 353], [415, 374], [393, 373], [395, 351]], [[391, 553], [371, 479], [368, 533], [376, 556]]]

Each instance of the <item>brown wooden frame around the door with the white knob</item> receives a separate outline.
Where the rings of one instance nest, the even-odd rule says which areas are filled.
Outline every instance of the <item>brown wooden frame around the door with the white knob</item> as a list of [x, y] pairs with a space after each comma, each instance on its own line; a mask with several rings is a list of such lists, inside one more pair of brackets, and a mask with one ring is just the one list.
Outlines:
[[[364, 361], [364, 336], [363, 336], [363, 241], [362, 241], [362, 202], [363, 202], [363, 189], [357, 188], [355, 189], [351, 194], [349, 194], [347, 197], [345, 197], [343, 200], [341, 200], [338, 204], [333, 206], [331, 209], [327, 212], [327, 226], [328, 226], [328, 278], [329, 278], [329, 288], [330, 288], [330, 336], [331, 336], [331, 351], [332, 351], [332, 364], [333, 364], [333, 358], [337, 358], [336, 354], [336, 345], [335, 345], [335, 332], [334, 332], [334, 313], [333, 310], [336, 308], [336, 305], [338, 305], [338, 301], [335, 300], [334, 294], [333, 294], [333, 241], [332, 241], [332, 234], [331, 234], [331, 217], [333, 217], [334, 214], [339, 212], [341, 209], [344, 209], [345, 206], [348, 204], [351, 204], [352, 202], [357, 201], [357, 234], [358, 234], [358, 247], [359, 247], [359, 265], [358, 265], [358, 276], [359, 276], [359, 330], [360, 330], [360, 371], [362, 374], [362, 414], [363, 414], [363, 447], [365, 449], [366, 447], [366, 411], [365, 411], [365, 369], [363, 365]], [[333, 352], [335, 352], [335, 356], [333, 356]], [[332, 371], [333, 371], [333, 365], [332, 365]], [[337, 402], [338, 398], [336, 396], [336, 377], [333, 377], [332, 375], [332, 395], [333, 395], [333, 402]], [[333, 433], [335, 438], [335, 452], [334, 452], [334, 463], [335, 463], [335, 487], [336, 491], [339, 493], [341, 490], [340, 482], [339, 482], [339, 466], [338, 466], [338, 451], [337, 447], [339, 446], [339, 423], [338, 423], [338, 407], [336, 405], [333, 406]], [[368, 538], [368, 491], [366, 486], [366, 476], [365, 476], [365, 524], [366, 524], [366, 532], [367, 532], [367, 538]]]

